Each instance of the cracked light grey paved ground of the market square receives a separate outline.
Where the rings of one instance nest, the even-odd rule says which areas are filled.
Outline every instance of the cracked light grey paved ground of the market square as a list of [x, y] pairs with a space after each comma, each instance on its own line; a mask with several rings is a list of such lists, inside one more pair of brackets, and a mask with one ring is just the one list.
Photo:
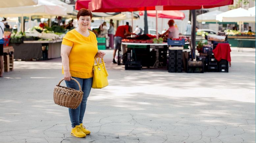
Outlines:
[[53, 102], [60, 58], [16, 61], [0, 79], [0, 142], [255, 143], [255, 49], [232, 48], [229, 73], [203, 74], [125, 71], [106, 53], [109, 86], [91, 90], [90, 135], [71, 136], [67, 108]]

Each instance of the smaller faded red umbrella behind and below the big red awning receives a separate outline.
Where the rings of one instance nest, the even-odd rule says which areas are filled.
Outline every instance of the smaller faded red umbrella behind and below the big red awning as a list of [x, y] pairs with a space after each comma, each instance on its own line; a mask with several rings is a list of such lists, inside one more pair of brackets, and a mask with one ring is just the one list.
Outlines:
[[[139, 14], [144, 11], [139, 11]], [[159, 18], [170, 18], [170, 19], [180, 19], [185, 18], [185, 14], [179, 10], [157, 10], [157, 15]], [[147, 16], [156, 17], [156, 10], [147, 10]]]

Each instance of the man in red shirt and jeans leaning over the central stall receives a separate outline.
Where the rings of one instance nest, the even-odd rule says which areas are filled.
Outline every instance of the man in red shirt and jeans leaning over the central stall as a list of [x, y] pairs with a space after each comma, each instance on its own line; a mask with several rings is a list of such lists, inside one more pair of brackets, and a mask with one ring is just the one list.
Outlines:
[[129, 32], [129, 22], [126, 22], [126, 25], [117, 27], [117, 30], [115, 32], [115, 40], [114, 40], [115, 49], [114, 49], [114, 53], [113, 53], [113, 62], [112, 63], [116, 64], [115, 53], [116, 53], [117, 49], [121, 46], [122, 39], [131, 34], [133, 34], [133, 33]]

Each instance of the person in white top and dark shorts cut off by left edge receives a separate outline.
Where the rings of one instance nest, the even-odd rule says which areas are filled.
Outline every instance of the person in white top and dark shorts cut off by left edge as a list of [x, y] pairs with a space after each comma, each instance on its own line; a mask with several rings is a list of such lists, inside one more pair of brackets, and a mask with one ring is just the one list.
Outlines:
[[4, 77], [3, 76], [3, 68], [4, 68], [4, 39], [3, 39], [3, 35], [4, 35], [4, 23], [0, 22], [0, 77]]

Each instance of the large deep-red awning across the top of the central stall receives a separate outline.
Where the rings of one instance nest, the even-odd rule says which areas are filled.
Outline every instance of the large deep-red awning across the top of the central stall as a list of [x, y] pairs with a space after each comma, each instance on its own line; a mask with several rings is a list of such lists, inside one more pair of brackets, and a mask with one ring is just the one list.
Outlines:
[[94, 12], [121, 12], [140, 10], [194, 10], [233, 4], [233, 0], [92, 0], [89, 10]]

